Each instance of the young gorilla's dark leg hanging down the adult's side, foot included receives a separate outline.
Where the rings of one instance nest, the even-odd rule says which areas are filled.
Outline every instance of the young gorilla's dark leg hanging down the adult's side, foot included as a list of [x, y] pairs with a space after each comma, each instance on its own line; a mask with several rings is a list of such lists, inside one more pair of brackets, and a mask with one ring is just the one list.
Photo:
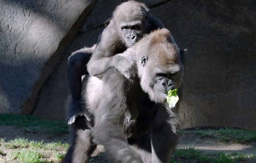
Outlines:
[[[80, 114], [81, 102], [81, 76], [88, 74], [86, 64], [90, 60], [92, 53], [90, 48], [84, 48], [74, 52], [67, 62], [67, 80], [72, 95], [70, 114], [67, 117], [68, 124], [74, 123], [76, 117]], [[88, 115], [85, 115], [88, 121]]]

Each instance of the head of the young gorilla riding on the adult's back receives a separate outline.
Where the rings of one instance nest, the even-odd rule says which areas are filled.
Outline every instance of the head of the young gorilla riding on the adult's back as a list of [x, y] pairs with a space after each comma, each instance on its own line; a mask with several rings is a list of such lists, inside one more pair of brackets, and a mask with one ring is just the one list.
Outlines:
[[120, 37], [127, 47], [142, 38], [148, 25], [149, 9], [144, 3], [127, 1], [121, 3], [113, 13], [113, 20]]

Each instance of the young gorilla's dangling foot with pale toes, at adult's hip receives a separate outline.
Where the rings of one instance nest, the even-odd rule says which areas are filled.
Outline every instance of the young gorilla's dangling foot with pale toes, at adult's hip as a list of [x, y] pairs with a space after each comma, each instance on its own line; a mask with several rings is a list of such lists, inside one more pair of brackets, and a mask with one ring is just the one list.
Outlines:
[[80, 103], [74, 102], [67, 116], [67, 124], [71, 125], [74, 123], [78, 116], [85, 116], [87, 121], [91, 121], [90, 114], [85, 109], [81, 110]]

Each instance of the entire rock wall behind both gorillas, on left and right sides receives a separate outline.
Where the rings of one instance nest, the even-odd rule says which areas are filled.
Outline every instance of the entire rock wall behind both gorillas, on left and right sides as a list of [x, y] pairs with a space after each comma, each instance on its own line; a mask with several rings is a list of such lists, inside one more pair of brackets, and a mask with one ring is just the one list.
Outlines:
[[[35, 9], [24, 5], [26, 1], [0, 0], [0, 6], [6, 6], [0, 7], [1, 15], [5, 15], [0, 17], [0, 113], [22, 111], [65, 119], [69, 93], [67, 58], [71, 52], [93, 45], [115, 6], [123, 2], [76, 1], [79, 9], [69, 7], [65, 13], [60, 5], [46, 2], [36, 1]], [[74, 5], [68, 2], [56, 3]], [[231, 126], [255, 130], [256, 1], [143, 2], [172, 32], [179, 47], [189, 49], [184, 57], [183, 99], [178, 110], [182, 127]], [[19, 19], [13, 16], [14, 7]], [[43, 15], [44, 19], [32, 19], [33, 14], [40, 15], [46, 10], [48, 15]], [[84, 22], [74, 24], [78, 17]], [[44, 21], [49, 21], [49, 27]], [[70, 30], [74, 31], [74, 38], [67, 37]], [[58, 57], [53, 60], [52, 56]], [[43, 71], [45, 67], [50, 70]], [[29, 103], [28, 99], [33, 98]]]

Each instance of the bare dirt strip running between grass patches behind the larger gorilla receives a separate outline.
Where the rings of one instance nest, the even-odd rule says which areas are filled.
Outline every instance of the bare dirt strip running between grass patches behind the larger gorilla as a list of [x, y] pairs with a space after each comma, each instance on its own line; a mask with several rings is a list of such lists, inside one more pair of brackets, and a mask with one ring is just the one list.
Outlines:
[[[30, 132], [27, 129], [17, 129], [12, 126], [0, 126], [0, 138], [5, 138], [5, 141], [15, 139], [16, 137], [24, 137], [29, 140], [42, 141], [44, 143], [52, 141], [68, 142], [68, 134], [65, 135], [49, 135], [47, 133]], [[191, 132], [184, 132], [180, 136], [177, 148], [193, 147], [206, 154], [227, 152], [227, 153], [251, 153], [256, 155], [256, 146], [252, 144], [236, 144], [236, 143], [222, 143], [212, 138], [200, 138], [198, 135]], [[98, 146], [92, 155], [92, 162], [106, 163], [106, 156], [104, 155], [104, 148]]]

